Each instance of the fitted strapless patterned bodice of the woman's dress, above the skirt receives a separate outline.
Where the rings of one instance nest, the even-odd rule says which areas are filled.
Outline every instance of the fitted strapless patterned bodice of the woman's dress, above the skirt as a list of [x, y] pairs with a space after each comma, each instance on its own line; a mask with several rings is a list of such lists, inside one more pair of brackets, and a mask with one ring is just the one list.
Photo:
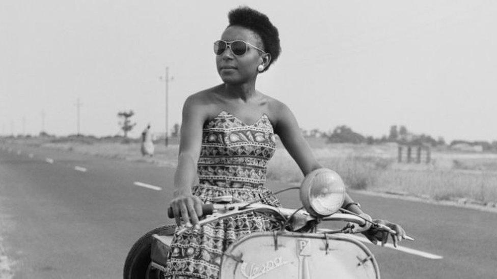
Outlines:
[[212, 190], [203, 191], [204, 200], [211, 201], [212, 197], [230, 194], [242, 200], [255, 198], [250, 197], [253, 195], [240, 195], [240, 191], [255, 190], [264, 185], [267, 164], [275, 149], [273, 128], [266, 114], [254, 124], [247, 125], [226, 111], [220, 112], [204, 126], [202, 133], [199, 184]]

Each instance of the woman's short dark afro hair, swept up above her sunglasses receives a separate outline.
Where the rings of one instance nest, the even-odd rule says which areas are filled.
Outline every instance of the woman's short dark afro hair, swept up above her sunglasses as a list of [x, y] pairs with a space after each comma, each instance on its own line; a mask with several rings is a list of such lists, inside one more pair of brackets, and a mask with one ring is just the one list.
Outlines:
[[245, 27], [261, 37], [264, 50], [271, 54], [271, 61], [264, 72], [269, 69], [281, 52], [278, 28], [272, 25], [265, 14], [246, 6], [231, 10], [228, 19], [230, 22], [228, 27], [233, 25]]

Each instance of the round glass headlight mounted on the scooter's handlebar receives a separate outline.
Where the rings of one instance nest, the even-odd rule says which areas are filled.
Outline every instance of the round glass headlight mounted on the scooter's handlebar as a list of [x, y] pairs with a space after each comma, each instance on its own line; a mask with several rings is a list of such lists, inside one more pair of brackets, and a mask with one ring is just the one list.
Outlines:
[[345, 184], [338, 173], [322, 168], [310, 172], [300, 185], [300, 201], [313, 216], [328, 216], [340, 209]]

